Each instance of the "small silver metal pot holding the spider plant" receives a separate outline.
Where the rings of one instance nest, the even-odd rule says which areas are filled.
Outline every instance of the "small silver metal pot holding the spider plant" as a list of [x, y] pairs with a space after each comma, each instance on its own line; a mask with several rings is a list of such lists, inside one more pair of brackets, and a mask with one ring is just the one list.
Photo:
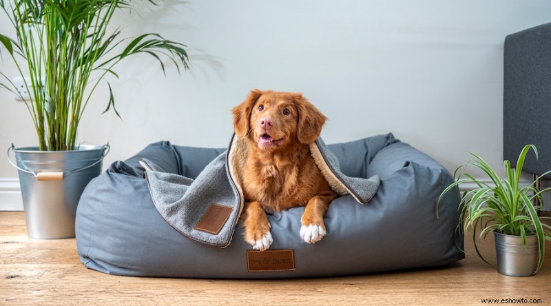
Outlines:
[[537, 269], [539, 252], [537, 236], [521, 236], [494, 232], [497, 272], [508, 276], [531, 276]]

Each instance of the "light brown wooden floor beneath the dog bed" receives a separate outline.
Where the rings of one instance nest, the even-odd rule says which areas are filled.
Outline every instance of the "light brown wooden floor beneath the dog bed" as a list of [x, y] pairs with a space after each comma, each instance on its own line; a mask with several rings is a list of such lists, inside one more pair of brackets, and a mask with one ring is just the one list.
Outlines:
[[[0, 305], [551, 305], [550, 243], [539, 274], [514, 278], [479, 260], [468, 241], [466, 259], [438, 269], [278, 281], [135, 278], [87, 269], [74, 239], [32, 240], [22, 212], [0, 212]], [[491, 256], [493, 244], [481, 246]]]

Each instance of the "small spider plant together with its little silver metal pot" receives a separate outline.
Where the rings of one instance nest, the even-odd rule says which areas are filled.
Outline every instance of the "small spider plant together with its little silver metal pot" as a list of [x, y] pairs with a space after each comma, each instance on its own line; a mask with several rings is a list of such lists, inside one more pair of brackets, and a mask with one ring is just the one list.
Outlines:
[[[455, 182], [440, 195], [441, 198], [462, 183], [477, 186], [461, 196], [459, 230], [473, 228], [472, 239], [475, 241], [476, 252], [486, 263], [488, 261], [477, 247], [477, 232], [480, 232], [479, 238], [494, 232], [497, 271], [509, 276], [536, 274], [545, 258], [545, 241], [551, 240], [551, 227], [541, 222], [541, 219], [549, 217], [539, 216], [543, 205], [532, 204], [534, 199], [543, 203], [543, 193], [551, 189], [539, 190], [536, 187], [539, 178], [550, 172], [542, 174], [529, 185], [521, 186], [522, 167], [530, 149], [537, 158], [537, 148], [526, 145], [519, 154], [517, 167], [514, 169], [510, 161], [503, 161], [506, 178], [501, 178], [484, 159], [471, 153], [474, 159], [457, 167], [454, 172]], [[461, 172], [469, 166], [480, 170], [491, 183], [476, 179], [469, 172]]]

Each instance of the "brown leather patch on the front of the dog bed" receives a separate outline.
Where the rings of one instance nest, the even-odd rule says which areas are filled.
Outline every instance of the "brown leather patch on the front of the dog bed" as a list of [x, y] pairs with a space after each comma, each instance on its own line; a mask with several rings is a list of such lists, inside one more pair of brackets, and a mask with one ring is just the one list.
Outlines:
[[293, 249], [273, 249], [267, 251], [247, 250], [249, 272], [294, 271], [295, 252]]

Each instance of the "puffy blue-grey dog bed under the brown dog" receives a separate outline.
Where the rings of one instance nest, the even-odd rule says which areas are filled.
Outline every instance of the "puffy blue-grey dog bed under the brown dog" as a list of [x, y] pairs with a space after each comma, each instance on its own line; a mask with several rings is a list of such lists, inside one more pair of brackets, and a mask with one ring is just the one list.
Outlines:
[[[225, 150], [163, 141], [112, 163], [87, 185], [76, 212], [81, 261], [125, 276], [297, 278], [435, 267], [464, 258], [458, 248], [463, 236], [456, 232], [457, 190], [446, 194], [436, 214], [439, 194], [453, 183], [442, 165], [393, 134], [327, 147], [347, 176], [378, 175], [381, 182], [365, 205], [350, 194], [335, 199], [324, 218], [327, 235], [318, 243], [300, 239], [304, 207], [269, 214], [273, 245], [268, 253], [253, 254], [239, 225], [224, 248], [184, 236], [159, 214], [139, 161], [195, 179]], [[286, 265], [256, 265], [276, 260]]]

